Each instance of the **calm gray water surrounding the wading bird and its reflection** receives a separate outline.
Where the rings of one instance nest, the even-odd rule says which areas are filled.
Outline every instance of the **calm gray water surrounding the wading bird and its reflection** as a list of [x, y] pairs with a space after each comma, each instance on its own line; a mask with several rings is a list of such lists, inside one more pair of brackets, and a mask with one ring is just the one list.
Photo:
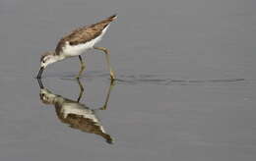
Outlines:
[[[252, 0], [0, 0], [0, 160], [256, 159], [256, 3]], [[97, 134], [63, 124], [40, 101], [40, 54], [70, 30], [118, 13], [98, 46], [117, 81]], [[104, 56], [90, 51], [81, 102], [103, 105]], [[76, 100], [78, 58], [42, 82]]]

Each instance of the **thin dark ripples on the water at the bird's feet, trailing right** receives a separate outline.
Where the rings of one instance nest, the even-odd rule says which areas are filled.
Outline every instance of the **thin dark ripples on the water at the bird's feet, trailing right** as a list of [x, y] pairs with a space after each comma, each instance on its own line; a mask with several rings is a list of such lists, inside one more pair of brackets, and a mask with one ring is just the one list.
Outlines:
[[[74, 74], [63, 74], [60, 78], [61, 80], [74, 80], [76, 75]], [[109, 74], [103, 72], [88, 72], [81, 79], [94, 80], [94, 79], [108, 79]], [[55, 77], [58, 77], [55, 75]], [[158, 84], [158, 85], [205, 85], [212, 83], [246, 83], [245, 79], [241, 78], [227, 78], [227, 79], [211, 79], [211, 80], [182, 80], [182, 79], [172, 79], [167, 75], [117, 75], [116, 83], [118, 84]]]

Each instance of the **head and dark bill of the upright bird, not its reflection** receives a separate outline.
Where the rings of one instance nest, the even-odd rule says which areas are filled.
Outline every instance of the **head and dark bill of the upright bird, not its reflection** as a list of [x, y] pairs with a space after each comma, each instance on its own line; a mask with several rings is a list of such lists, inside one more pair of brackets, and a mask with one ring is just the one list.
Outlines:
[[55, 52], [46, 52], [42, 54], [40, 59], [40, 71], [38, 72], [37, 79], [40, 79], [43, 70], [49, 64], [52, 64], [57, 61], [58, 61], [58, 57], [56, 56]]

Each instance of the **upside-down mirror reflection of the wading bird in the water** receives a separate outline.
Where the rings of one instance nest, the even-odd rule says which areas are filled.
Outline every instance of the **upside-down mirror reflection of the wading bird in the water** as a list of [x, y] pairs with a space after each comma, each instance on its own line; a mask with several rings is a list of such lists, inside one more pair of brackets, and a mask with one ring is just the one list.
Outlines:
[[40, 99], [42, 103], [54, 105], [56, 114], [62, 123], [68, 124], [71, 128], [78, 129], [82, 132], [100, 135], [105, 138], [108, 143], [113, 142], [113, 138], [105, 133], [99, 119], [96, 117], [96, 111], [106, 109], [110, 91], [113, 86], [112, 83], [109, 86], [103, 107], [97, 109], [90, 109], [85, 104], [79, 102], [84, 92], [80, 80], [78, 80], [78, 83], [81, 90], [77, 101], [53, 94], [43, 87], [41, 80], [38, 80], [38, 83], [40, 85]]

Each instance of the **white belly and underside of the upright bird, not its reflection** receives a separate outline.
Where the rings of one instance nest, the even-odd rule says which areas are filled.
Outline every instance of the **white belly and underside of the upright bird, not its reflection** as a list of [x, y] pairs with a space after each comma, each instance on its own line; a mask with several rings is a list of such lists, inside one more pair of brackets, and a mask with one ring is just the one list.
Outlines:
[[[109, 25], [107, 26], [109, 27]], [[65, 56], [78, 56], [86, 52], [88, 49], [91, 49], [95, 46], [95, 44], [101, 40], [102, 36], [105, 34], [105, 31], [107, 29], [105, 27], [101, 34], [97, 36], [95, 39], [92, 39], [89, 42], [83, 43], [83, 44], [78, 44], [78, 45], [70, 45], [68, 41], [66, 41], [66, 45], [63, 48], [63, 55]]]

